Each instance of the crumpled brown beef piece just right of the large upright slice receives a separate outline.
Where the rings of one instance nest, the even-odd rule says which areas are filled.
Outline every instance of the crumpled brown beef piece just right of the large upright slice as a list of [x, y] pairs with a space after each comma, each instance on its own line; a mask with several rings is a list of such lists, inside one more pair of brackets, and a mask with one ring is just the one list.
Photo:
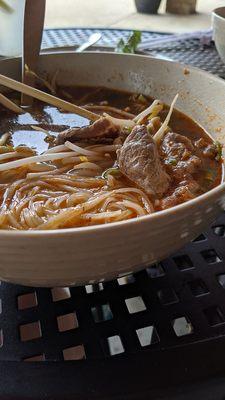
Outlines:
[[202, 165], [190, 139], [174, 132], [168, 132], [164, 136], [161, 155], [168, 172], [178, 181], [186, 175], [194, 174]]

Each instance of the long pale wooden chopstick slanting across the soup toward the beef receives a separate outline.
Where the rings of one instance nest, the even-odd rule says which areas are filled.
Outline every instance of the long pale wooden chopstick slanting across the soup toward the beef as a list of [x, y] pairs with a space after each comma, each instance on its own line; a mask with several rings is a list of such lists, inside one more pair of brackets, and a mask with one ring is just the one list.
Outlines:
[[41, 100], [52, 106], [62, 108], [65, 111], [69, 111], [74, 114], [78, 114], [81, 117], [87, 118], [90, 121], [97, 121], [100, 116], [85, 108], [76, 106], [75, 104], [69, 103], [68, 101], [62, 100], [51, 94], [42, 92], [42, 90], [32, 88], [31, 86], [25, 85], [24, 83], [15, 81], [12, 78], [0, 74], [0, 85], [16, 90], [17, 92], [24, 93], [28, 96], [32, 96], [35, 99]]

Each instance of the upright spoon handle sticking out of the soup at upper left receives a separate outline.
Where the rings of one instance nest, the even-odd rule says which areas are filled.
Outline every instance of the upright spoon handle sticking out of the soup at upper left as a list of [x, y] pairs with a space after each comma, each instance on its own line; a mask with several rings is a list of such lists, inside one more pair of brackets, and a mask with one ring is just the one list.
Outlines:
[[[26, 66], [36, 72], [44, 27], [45, 3], [46, 0], [26, 0], [25, 4], [22, 81], [29, 86], [35, 85], [35, 77], [26, 73]], [[22, 95], [21, 103], [24, 106], [30, 106], [32, 98]]]

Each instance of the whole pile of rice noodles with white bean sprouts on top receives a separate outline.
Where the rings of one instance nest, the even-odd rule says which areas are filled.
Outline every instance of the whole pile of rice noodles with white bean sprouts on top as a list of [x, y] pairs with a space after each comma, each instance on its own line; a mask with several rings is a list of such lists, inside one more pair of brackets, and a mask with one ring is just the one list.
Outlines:
[[0, 164], [0, 179], [9, 182], [0, 191], [0, 229], [70, 228], [153, 212], [140, 189], [126, 187], [113, 177], [111, 181], [101, 177], [113, 167], [121, 145], [81, 146], [66, 142], [38, 156], [22, 147], [0, 154], [2, 161], [16, 158]]

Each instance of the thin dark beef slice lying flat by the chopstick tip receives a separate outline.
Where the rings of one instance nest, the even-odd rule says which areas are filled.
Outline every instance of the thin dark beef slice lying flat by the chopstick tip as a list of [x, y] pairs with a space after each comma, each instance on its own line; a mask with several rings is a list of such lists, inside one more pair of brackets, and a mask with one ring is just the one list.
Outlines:
[[65, 143], [67, 140], [76, 142], [82, 139], [94, 139], [116, 137], [118, 128], [107, 117], [101, 117], [93, 124], [83, 126], [82, 128], [70, 128], [60, 132], [56, 138], [56, 144]]

